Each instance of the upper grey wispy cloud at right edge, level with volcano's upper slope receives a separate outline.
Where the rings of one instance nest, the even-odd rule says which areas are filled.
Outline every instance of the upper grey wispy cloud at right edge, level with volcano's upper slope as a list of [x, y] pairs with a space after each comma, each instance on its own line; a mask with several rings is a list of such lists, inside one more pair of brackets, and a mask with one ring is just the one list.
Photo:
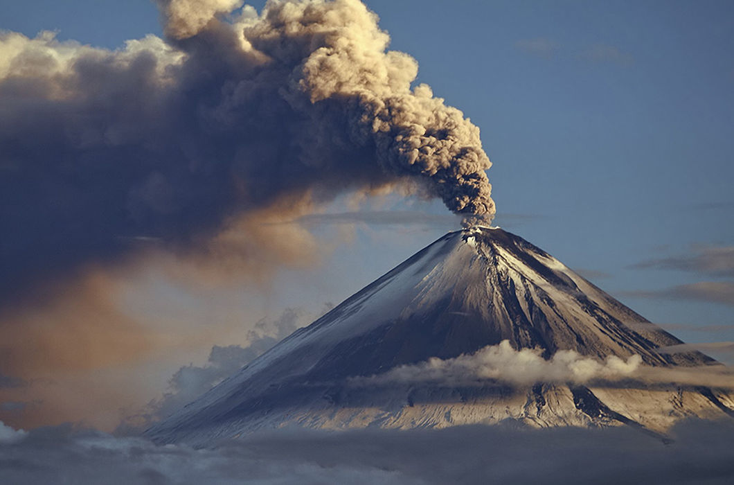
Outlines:
[[711, 276], [734, 277], [734, 246], [693, 245], [690, 254], [648, 259], [632, 267], [681, 270]]

